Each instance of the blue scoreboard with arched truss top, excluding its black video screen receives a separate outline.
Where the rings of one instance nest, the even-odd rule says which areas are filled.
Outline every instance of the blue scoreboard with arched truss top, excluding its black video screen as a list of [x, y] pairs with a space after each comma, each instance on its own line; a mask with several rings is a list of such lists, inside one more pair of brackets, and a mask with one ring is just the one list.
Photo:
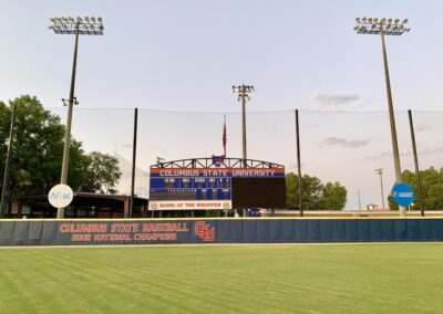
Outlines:
[[[285, 166], [255, 159], [224, 158], [224, 156], [157, 163], [150, 167], [148, 209], [231, 209], [235, 197], [233, 178], [284, 180]], [[257, 207], [265, 208], [260, 205]]]

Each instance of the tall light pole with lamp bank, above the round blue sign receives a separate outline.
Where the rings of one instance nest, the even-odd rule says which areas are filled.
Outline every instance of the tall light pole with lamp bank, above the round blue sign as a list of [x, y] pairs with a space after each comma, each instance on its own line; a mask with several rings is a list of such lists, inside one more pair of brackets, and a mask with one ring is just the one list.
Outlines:
[[[392, 94], [391, 94], [391, 83], [389, 80], [389, 69], [388, 69], [388, 55], [387, 48], [384, 44], [384, 35], [402, 35], [404, 32], [409, 32], [410, 29], [404, 27], [408, 23], [408, 19], [402, 22], [399, 19], [378, 19], [378, 18], [357, 18], [356, 27], [353, 30], [358, 34], [377, 34], [381, 36], [381, 44], [383, 51], [383, 64], [384, 64], [384, 77], [387, 83], [388, 92], [388, 108], [389, 108], [389, 121], [391, 125], [391, 138], [392, 138], [392, 151], [394, 157], [394, 170], [395, 170], [395, 181], [400, 184], [401, 178], [401, 166], [400, 166], [400, 154], [399, 144], [396, 140], [396, 129], [395, 129], [395, 117], [394, 109], [392, 105]], [[400, 216], [406, 216], [406, 209], [402, 206], [399, 207]]]

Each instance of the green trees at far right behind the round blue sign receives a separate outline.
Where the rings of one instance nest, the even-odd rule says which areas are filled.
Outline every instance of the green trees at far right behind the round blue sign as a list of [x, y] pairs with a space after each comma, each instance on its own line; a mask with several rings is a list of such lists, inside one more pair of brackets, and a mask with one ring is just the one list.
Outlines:
[[[439, 170], [434, 167], [430, 167], [427, 169], [420, 170], [420, 179], [422, 182], [424, 210], [443, 210], [443, 168]], [[420, 209], [418, 199], [419, 186], [415, 172], [404, 170], [402, 172], [402, 181], [406, 185], [410, 185], [415, 191], [415, 201], [413, 208]], [[388, 197], [388, 200], [391, 210], [399, 209], [399, 206], [394, 203], [391, 196]]]

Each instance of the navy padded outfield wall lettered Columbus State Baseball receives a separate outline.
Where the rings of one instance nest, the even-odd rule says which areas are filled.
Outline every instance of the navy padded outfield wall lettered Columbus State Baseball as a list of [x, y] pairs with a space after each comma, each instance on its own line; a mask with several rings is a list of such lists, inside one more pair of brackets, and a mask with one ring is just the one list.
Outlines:
[[0, 245], [443, 241], [443, 219], [2, 220]]

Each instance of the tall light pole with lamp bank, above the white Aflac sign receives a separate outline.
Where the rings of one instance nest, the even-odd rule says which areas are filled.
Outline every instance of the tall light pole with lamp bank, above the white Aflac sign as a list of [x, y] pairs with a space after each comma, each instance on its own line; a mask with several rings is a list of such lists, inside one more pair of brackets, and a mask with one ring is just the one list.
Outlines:
[[[70, 157], [71, 146], [71, 124], [72, 124], [72, 106], [76, 103], [74, 97], [75, 87], [75, 71], [76, 71], [76, 54], [79, 46], [79, 34], [81, 35], [103, 35], [103, 20], [102, 18], [53, 18], [50, 19], [50, 30], [53, 30], [56, 34], [74, 34], [74, 59], [72, 63], [72, 75], [71, 75], [71, 90], [70, 97], [68, 100], [68, 119], [66, 119], [66, 132], [64, 134], [64, 147], [63, 147], [63, 161], [60, 184], [66, 185], [68, 182], [68, 167]], [[64, 100], [63, 100], [64, 103]], [[56, 210], [56, 218], [64, 218], [64, 208]]]

